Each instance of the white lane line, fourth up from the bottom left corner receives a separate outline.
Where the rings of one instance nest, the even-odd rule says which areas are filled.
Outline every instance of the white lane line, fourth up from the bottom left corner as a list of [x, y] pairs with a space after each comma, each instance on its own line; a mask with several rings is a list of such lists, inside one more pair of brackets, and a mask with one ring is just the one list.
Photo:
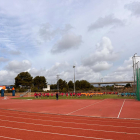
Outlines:
[[84, 125], [97, 125], [97, 126], [110, 126], [110, 127], [124, 127], [124, 128], [140, 128], [140, 127], [127, 127], [127, 126], [115, 126], [115, 125], [101, 125], [101, 124], [88, 124], [88, 123], [76, 123], [76, 122], [66, 122], [66, 121], [54, 121], [54, 120], [42, 120], [42, 119], [32, 119], [32, 118], [23, 118], [23, 117], [14, 117], [14, 116], [5, 116], [5, 115], [0, 115], [4, 117], [9, 117], [9, 118], [20, 118], [23, 120], [35, 120], [35, 121], [44, 121], [44, 122], [61, 122], [61, 123], [74, 123], [74, 124], [84, 124]]

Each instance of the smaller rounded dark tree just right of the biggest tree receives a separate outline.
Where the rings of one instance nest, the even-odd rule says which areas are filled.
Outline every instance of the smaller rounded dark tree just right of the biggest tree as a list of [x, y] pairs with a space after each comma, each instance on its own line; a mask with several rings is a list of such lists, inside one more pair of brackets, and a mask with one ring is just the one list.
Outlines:
[[38, 89], [47, 87], [46, 78], [44, 76], [36, 76], [34, 78], [34, 86]]

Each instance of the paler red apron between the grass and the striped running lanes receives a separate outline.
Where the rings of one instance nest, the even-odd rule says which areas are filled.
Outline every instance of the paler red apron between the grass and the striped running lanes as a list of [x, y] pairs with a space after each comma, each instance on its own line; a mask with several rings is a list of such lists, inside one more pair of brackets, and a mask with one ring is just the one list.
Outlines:
[[140, 119], [140, 102], [128, 99], [56, 101], [0, 98], [0, 108], [61, 115]]

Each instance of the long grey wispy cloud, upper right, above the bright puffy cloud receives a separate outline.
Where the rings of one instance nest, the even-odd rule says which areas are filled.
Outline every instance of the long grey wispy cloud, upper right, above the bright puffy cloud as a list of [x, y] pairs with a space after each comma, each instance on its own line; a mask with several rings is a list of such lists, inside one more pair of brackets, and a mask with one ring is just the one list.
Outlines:
[[104, 28], [106, 26], [123, 26], [122, 20], [115, 18], [113, 15], [101, 17], [88, 27], [88, 31]]

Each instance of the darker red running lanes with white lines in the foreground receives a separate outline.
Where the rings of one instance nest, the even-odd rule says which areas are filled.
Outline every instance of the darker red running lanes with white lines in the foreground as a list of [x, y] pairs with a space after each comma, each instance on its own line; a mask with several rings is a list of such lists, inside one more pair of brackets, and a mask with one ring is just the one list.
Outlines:
[[140, 120], [0, 109], [0, 140], [139, 140]]

